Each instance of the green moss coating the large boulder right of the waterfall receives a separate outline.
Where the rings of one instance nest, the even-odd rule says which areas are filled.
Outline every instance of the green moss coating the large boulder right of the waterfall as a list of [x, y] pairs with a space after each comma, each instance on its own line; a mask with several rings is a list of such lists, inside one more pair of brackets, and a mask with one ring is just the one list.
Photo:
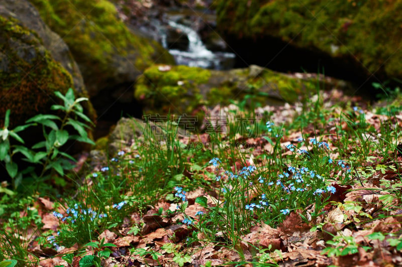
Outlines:
[[226, 35], [263, 36], [318, 49], [371, 73], [402, 78], [402, 0], [219, 0], [218, 26]]

